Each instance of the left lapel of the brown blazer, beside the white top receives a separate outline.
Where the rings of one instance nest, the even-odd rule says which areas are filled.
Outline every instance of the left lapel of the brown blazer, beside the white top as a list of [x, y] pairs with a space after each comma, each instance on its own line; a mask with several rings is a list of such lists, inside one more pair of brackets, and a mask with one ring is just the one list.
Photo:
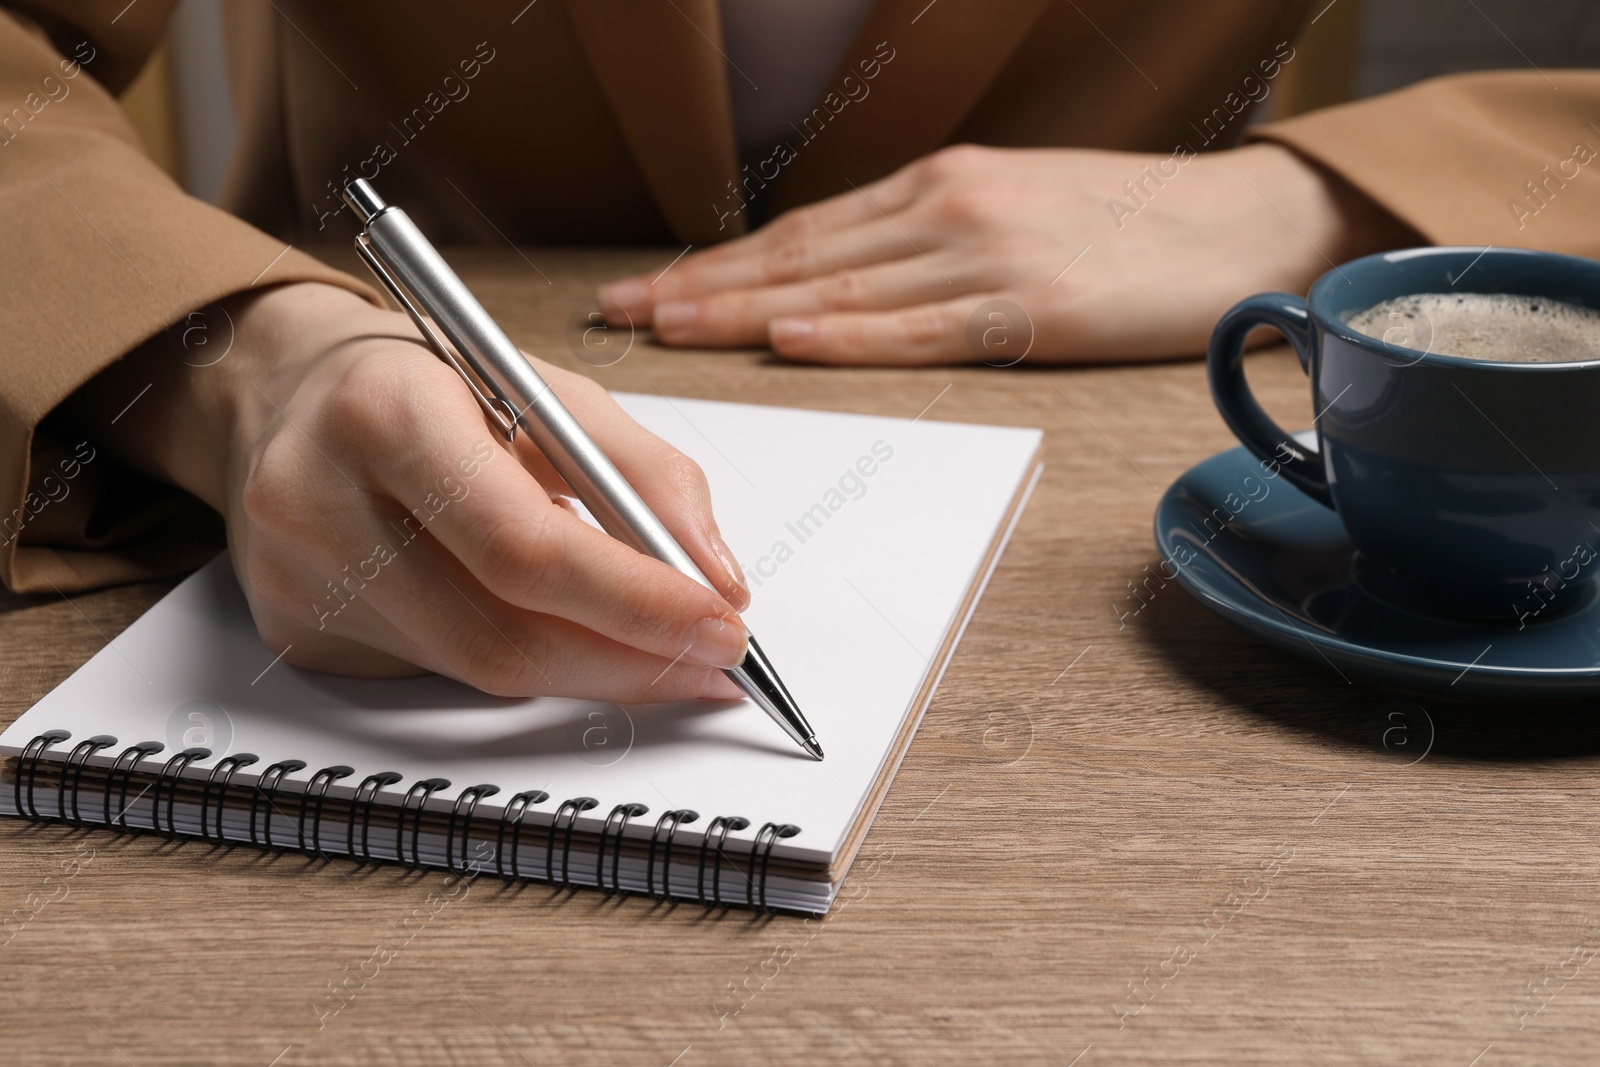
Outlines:
[[742, 213], [717, 211], [739, 170], [717, 0], [565, 3], [672, 232], [696, 245], [742, 234]]

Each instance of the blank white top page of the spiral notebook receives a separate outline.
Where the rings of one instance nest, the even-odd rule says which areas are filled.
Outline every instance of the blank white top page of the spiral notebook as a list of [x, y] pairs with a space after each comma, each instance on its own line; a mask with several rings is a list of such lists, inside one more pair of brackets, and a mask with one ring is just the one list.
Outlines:
[[[579, 822], [592, 829], [624, 801], [648, 805], [650, 821], [693, 808], [702, 819], [683, 840], [718, 814], [752, 822], [730, 840], [749, 840], [765, 821], [792, 822], [802, 833], [776, 854], [827, 862], [885, 769], [931, 659], [963, 622], [968, 589], [986, 577], [981, 568], [1034, 470], [1040, 432], [618, 400], [704, 467], [723, 536], [750, 577], [746, 621], [826, 761], [808, 758], [747, 701], [627, 709], [509, 701], [440, 677], [352, 680], [274, 662], [282, 649], [258, 637], [226, 555], [24, 713], [0, 736], [0, 750], [14, 755], [45, 729], [67, 729], [74, 741], [115, 736], [99, 765], [136, 741], [163, 741], [168, 752], [206, 744], [213, 758], [195, 765], [195, 776], [227, 752], [261, 757], [238, 784], [278, 760], [309, 765], [291, 782], [342, 763], [355, 774], [331, 795], [397, 771], [398, 790], [450, 779], [434, 797], [446, 809], [462, 787], [493, 782], [501, 792], [483, 801], [483, 816], [518, 790], [544, 789], [550, 801], [541, 811], [568, 797], [597, 798]], [[400, 549], [390, 566], [405, 565]], [[458, 593], [440, 582], [438, 595]]]

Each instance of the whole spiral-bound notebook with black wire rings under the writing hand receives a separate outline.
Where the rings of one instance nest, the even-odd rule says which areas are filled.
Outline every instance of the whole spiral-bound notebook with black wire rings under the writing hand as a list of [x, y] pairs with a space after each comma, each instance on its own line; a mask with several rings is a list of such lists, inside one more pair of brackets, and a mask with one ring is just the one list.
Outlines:
[[750, 702], [512, 701], [296, 669], [262, 645], [222, 555], [0, 734], [18, 757], [0, 811], [827, 910], [1038, 477], [1042, 435], [618, 400], [706, 470], [750, 579], [746, 619], [826, 761]]

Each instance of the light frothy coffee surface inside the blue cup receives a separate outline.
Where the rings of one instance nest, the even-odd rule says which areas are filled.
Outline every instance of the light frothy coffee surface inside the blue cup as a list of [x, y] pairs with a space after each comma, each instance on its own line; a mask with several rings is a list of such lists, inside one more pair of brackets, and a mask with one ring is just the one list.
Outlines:
[[1600, 360], [1600, 312], [1542, 296], [1413, 293], [1346, 325], [1406, 349], [1507, 363]]

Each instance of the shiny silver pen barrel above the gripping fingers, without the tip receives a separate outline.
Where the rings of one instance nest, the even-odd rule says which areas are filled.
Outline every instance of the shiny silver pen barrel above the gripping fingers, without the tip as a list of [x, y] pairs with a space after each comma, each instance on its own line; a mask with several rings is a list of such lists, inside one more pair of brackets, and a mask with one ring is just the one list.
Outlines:
[[512, 413], [600, 526], [624, 544], [714, 589], [677, 537], [656, 518], [622, 472], [589, 437], [550, 384], [478, 304], [443, 256], [400, 208], [366, 222], [366, 237], [384, 264], [422, 298], [427, 314], [472, 373], [515, 408]]

